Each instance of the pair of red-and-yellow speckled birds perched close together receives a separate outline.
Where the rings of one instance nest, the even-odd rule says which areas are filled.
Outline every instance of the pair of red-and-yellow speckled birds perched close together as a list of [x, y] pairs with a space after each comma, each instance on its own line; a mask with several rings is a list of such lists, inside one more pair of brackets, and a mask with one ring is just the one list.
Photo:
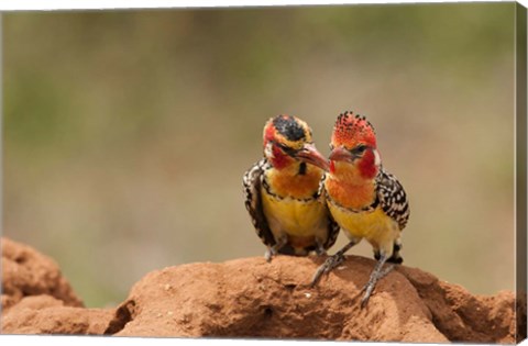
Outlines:
[[277, 254], [323, 255], [342, 228], [349, 243], [316, 271], [311, 286], [344, 260], [362, 238], [371, 243], [377, 264], [362, 306], [377, 280], [400, 264], [400, 232], [409, 217], [407, 196], [383, 166], [372, 124], [359, 114], [340, 114], [333, 127], [329, 159], [315, 147], [311, 129], [289, 115], [264, 126], [264, 157], [244, 175], [245, 207], [266, 259]]

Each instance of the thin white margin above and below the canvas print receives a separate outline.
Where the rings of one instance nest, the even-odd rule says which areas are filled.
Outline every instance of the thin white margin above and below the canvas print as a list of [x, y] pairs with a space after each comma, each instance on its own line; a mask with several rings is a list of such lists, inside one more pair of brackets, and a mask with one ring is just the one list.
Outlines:
[[[494, 0], [479, 0], [479, 2], [492, 2]], [[501, 0], [503, 2], [512, 2]], [[41, 0], [1, 0], [0, 11], [29, 11], [29, 10], [98, 10], [98, 9], [167, 9], [167, 8], [215, 8], [215, 7], [271, 7], [271, 5], [322, 5], [322, 4], [356, 4], [356, 3], [442, 3], [442, 2], [475, 2], [471, 0], [433, 0], [433, 1], [416, 1], [416, 0], [359, 0], [359, 1], [321, 1], [321, 0], [217, 0], [217, 1], [207, 1], [207, 0], [76, 0], [76, 1], [64, 1], [64, 0], [46, 0], [45, 3]], [[496, 2], [496, 0], [494, 1]], [[528, 0], [517, 1], [521, 3], [525, 8], [528, 7]], [[3, 12], [6, 13], [6, 12]], [[1, 18], [0, 18], [0, 37], [1, 37]], [[0, 48], [0, 66], [1, 66], [1, 48]], [[1, 68], [1, 67], [0, 67]], [[2, 82], [2, 75], [0, 70], [0, 82]], [[2, 96], [2, 86], [0, 85], [0, 98]], [[0, 99], [0, 119], [1, 118], [1, 99]], [[1, 129], [0, 129], [0, 139], [1, 139]], [[0, 147], [1, 148], [1, 147]], [[1, 159], [1, 153], [0, 153]], [[0, 176], [1, 178], [1, 176]], [[1, 192], [1, 186], [0, 186]], [[1, 199], [1, 194], [0, 194]], [[1, 202], [0, 202], [1, 205]], [[1, 220], [1, 214], [0, 214]], [[228, 346], [228, 345], [295, 345], [295, 346], [314, 346], [314, 345], [338, 345], [337, 342], [311, 342], [311, 341], [255, 341], [255, 339], [191, 339], [191, 338], [142, 338], [142, 337], [100, 337], [100, 336], [38, 336], [38, 335], [0, 335], [0, 341], [2, 345], [20, 345], [20, 344], [40, 344], [40, 345], [92, 345], [94, 342], [97, 342], [98, 345], [218, 345], [218, 346]], [[342, 343], [339, 343], [340, 345]], [[363, 344], [363, 343], [350, 343], [350, 344]], [[528, 342], [525, 341], [522, 345], [528, 345]], [[388, 343], [376, 343], [376, 345], [391, 345]], [[406, 344], [399, 343], [398, 345], [417, 345], [417, 344]], [[439, 344], [429, 344], [429, 345], [439, 345]]]

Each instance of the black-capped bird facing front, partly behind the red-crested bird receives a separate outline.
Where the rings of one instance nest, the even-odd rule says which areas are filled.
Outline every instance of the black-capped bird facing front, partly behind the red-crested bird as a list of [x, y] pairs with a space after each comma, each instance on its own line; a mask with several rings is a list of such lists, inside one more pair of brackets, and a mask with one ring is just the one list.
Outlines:
[[263, 158], [245, 171], [243, 187], [245, 208], [267, 247], [265, 259], [326, 254], [339, 226], [323, 199], [328, 159], [317, 150], [311, 129], [297, 116], [271, 118], [263, 148]]

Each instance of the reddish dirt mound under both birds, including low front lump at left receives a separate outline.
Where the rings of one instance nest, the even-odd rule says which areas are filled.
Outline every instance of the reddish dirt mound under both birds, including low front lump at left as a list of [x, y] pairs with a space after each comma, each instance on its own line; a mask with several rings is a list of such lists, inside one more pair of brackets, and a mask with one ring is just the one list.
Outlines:
[[[112, 310], [69, 308], [50, 295], [28, 297], [2, 316], [2, 331], [421, 343], [516, 342], [516, 301], [512, 292], [472, 295], [462, 287], [400, 266], [378, 282], [367, 306], [361, 309], [360, 289], [374, 261], [350, 256], [342, 267], [311, 289], [309, 280], [321, 261], [315, 257], [279, 256], [271, 264], [255, 257], [169, 267], [146, 275], [134, 284], [129, 298]], [[518, 306], [526, 308], [526, 302]], [[518, 311], [518, 321], [526, 321], [526, 309]], [[526, 324], [522, 328], [526, 331]]]

